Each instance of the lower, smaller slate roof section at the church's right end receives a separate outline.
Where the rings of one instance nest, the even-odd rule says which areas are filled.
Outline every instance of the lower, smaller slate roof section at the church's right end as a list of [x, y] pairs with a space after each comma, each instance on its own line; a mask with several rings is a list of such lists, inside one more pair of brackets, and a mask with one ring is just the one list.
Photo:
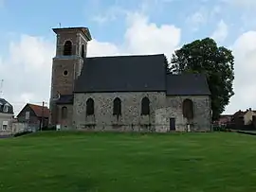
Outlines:
[[168, 74], [166, 92], [169, 96], [210, 96], [206, 76], [202, 74]]

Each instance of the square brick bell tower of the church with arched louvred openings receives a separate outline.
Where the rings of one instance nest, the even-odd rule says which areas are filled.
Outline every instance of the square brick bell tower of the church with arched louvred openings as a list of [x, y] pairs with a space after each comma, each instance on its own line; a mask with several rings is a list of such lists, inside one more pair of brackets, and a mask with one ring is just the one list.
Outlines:
[[82, 71], [87, 42], [92, 38], [87, 27], [52, 29], [57, 35], [56, 55], [52, 61], [50, 124], [72, 125], [73, 90]]

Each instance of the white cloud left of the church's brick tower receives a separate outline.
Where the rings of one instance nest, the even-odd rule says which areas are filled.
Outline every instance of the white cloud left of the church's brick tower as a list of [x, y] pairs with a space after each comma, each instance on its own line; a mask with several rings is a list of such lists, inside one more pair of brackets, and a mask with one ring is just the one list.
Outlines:
[[0, 77], [15, 113], [27, 101], [48, 101], [53, 54], [53, 44], [43, 38], [21, 35], [18, 42], [10, 42], [8, 59], [0, 62]]

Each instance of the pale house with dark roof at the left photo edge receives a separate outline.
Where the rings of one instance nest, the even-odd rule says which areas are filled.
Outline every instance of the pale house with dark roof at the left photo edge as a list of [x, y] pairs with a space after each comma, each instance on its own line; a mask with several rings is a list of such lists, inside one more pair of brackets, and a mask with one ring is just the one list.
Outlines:
[[0, 98], [0, 135], [11, 133], [11, 124], [13, 120], [13, 107], [4, 98]]

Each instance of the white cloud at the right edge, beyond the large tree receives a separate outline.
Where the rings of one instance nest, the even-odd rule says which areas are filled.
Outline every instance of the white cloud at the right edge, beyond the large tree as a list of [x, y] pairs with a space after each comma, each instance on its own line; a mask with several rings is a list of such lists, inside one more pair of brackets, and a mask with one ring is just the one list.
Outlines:
[[232, 45], [235, 57], [234, 92], [227, 113], [256, 109], [256, 31], [242, 34]]

